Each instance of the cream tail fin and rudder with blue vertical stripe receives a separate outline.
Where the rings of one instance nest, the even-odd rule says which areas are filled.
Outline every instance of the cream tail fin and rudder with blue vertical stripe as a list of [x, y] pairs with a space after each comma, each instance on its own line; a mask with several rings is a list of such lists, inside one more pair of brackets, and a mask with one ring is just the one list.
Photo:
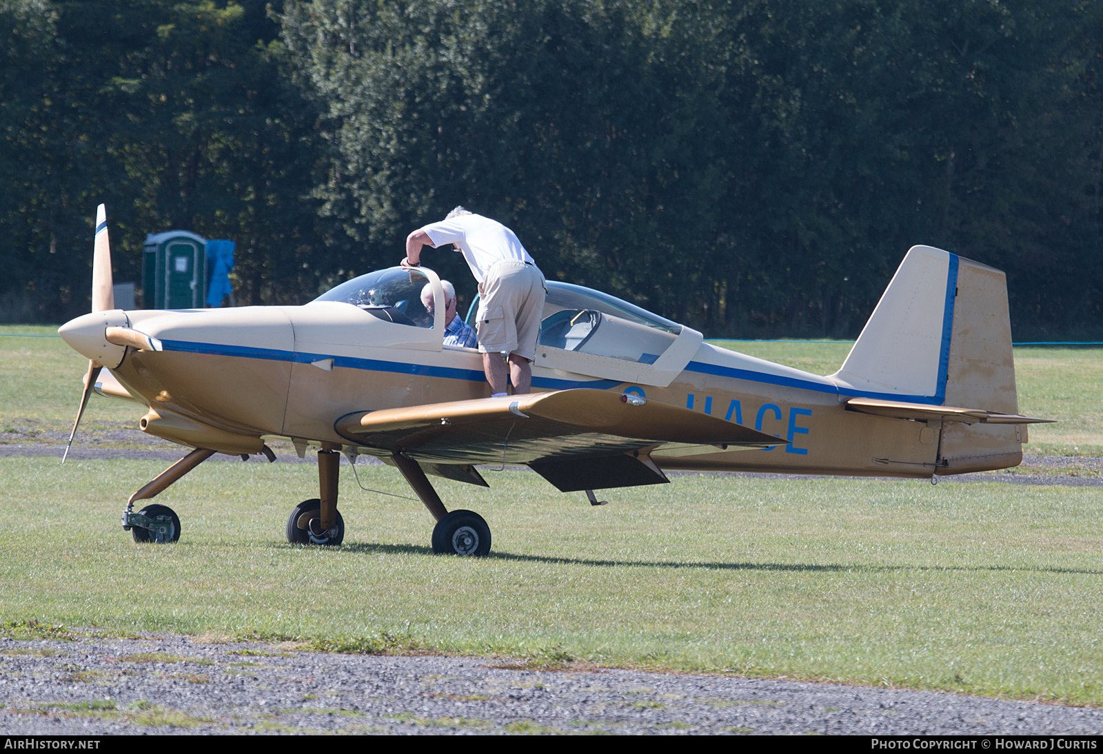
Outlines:
[[[831, 379], [842, 396], [1018, 413], [1006, 276], [913, 246]], [[938, 473], [1006, 468], [1022, 459], [1025, 424], [936, 423]]]

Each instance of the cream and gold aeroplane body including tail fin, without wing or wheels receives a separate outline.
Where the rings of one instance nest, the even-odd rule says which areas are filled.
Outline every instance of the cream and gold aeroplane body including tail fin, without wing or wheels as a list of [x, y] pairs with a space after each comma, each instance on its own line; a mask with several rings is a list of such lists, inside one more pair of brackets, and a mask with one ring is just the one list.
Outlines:
[[[365, 279], [388, 274], [404, 280], [407, 273]], [[104, 311], [61, 332], [150, 407], [142, 429], [151, 433], [221, 452], [256, 453], [263, 438], [287, 438], [300, 452], [311, 444], [388, 455], [394, 449], [360, 444], [335, 424], [349, 414], [490, 395], [482, 356], [442, 345], [439, 279], [431, 270], [418, 274], [437, 298], [435, 316], [421, 312], [420, 326], [405, 314], [394, 315], [405, 324], [381, 319], [377, 308], [373, 315], [374, 304], [318, 300], [303, 306]], [[689, 327], [598, 291], [548, 287], [535, 391], [636, 394], [784, 441], [722, 451], [658, 446], [652, 459], [662, 468], [930, 477], [1021, 460], [1026, 424], [1009, 422], [1027, 418], [1003, 416], [1005, 423], [992, 424], [950, 416], [955, 406], [1017, 412], [1006, 282], [998, 270], [913, 248], [843, 368], [826, 377], [718, 348]], [[129, 327], [133, 340], [127, 342], [136, 345], [108, 342], [105, 327], [111, 326]], [[143, 347], [146, 336], [157, 345]], [[938, 410], [876, 416], [847, 403], [855, 398]], [[506, 461], [526, 462], [504, 450]]]

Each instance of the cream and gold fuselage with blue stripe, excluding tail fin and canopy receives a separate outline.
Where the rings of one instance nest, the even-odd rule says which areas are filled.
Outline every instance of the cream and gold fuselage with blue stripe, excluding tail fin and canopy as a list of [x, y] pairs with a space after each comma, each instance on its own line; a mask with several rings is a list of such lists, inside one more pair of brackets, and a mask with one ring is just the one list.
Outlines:
[[[443, 347], [440, 331], [376, 319], [349, 304], [128, 312], [131, 327], [163, 351], [128, 349], [114, 374], [154, 410], [245, 435], [346, 446], [334, 422], [349, 413], [485, 398], [481, 355]], [[556, 349], [550, 349], [556, 351]], [[544, 348], [545, 364], [555, 358]], [[565, 359], [566, 360], [566, 359]], [[534, 365], [534, 390], [592, 387], [635, 392], [788, 440], [770, 450], [729, 450], [654, 460], [666, 470], [729, 470], [930, 477], [941, 422], [846, 409], [821, 377], [699, 343], [668, 385], [602, 379]], [[959, 432], [981, 428], [955, 428]], [[1016, 428], [1000, 432], [1006, 443]], [[372, 453], [374, 449], [358, 449]], [[977, 453], [951, 471], [1015, 465], [1006, 452]], [[990, 457], [989, 457], [990, 456]], [[996, 464], [995, 466], [993, 464]]]

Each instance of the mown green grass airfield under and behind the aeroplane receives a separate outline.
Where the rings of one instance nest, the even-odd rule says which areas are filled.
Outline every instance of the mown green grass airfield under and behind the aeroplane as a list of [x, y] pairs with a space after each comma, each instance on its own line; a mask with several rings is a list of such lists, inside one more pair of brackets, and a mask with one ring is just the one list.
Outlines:
[[[67, 432], [83, 360], [55, 338], [0, 349], [0, 420]], [[739, 349], [826, 374], [847, 346]], [[1097, 396], [1099, 349], [1016, 356], [1027, 413]], [[1103, 446], [1097, 413], [1064, 410], [1074, 427], [1040, 448]], [[593, 508], [486, 473], [490, 491], [439, 485], [492, 527], [492, 556], [468, 560], [432, 556], [420, 504], [362, 492], [347, 468], [344, 547], [289, 546], [317, 471], [258, 462], [197, 468], [156, 500], [181, 541], [137, 546], [119, 514], [162, 466], [0, 457], [0, 617], [1103, 703], [1103, 488], [684, 475]], [[409, 495], [392, 468], [361, 480]]]

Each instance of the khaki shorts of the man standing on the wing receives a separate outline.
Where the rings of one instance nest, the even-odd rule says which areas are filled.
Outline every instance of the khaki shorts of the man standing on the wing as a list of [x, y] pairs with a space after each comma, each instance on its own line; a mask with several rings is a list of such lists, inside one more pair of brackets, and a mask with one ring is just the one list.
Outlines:
[[546, 295], [544, 276], [533, 265], [500, 261], [490, 268], [479, 283], [479, 351], [505, 351], [535, 360]]

